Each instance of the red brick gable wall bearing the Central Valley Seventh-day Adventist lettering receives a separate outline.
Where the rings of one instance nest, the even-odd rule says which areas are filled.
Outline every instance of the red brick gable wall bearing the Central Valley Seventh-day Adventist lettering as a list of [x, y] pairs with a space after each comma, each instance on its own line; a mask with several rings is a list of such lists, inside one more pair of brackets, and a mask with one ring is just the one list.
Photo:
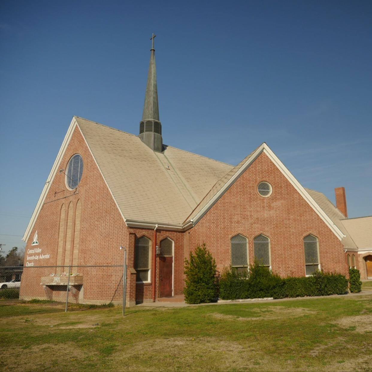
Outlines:
[[[27, 250], [41, 248], [42, 254], [49, 253], [49, 259], [33, 260], [35, 266], [56, 265], [58, 248], [58, 231], [60, 224], [61, 206], [65, 204], [64, 245], [62, 250], [62, 264], [64, 263], [67, 235], [67, 212], [70, 202], [73, 203], [73, 227], [75, 222], [76, 203], [82, 203], [80, 244], [78, 254], [79, 265], [119, 264], [123, 263], [124, 251], [119, 246], [128, 245], [128, 228], [100, 174], [99, 169], [87, 147], [80, 130], [76, 127], [64, 157], [58, 169], [66, 171], [68, 161], [74, 154], [80, 154], [84, 161], [84, 170], [78, 188], [70, 191], [65, 186], [65, 175], [57, 174], [49, 189], [47, 198], [35, 222], [35, 226], [26, 242], [25, 266]], [[31, 246], [33, 236], [38, 231], [38, 246]], [[70, 262], [72, 262], [74, 247], [74, 228], [71, 235]], [[133, 260], [134, 252], [128, 250], [128, 260]], [[62, 269], [63, 270], [63, 269]], [[63, 271], [67, 271], [65, 268]], [[45, 291], [40, 285], [40, 278], [48, 276], [55, 269], [33, 268], [24, 269], [21, 283], [21, 298], [45, 298]], [[84, 277], [84, 301], [94, 302], [94, 299], [107, 302], [122, 298], [119, 282], [123, 270], [121, 268], [78, 268]], [[119, 285], [119, 290], [118, 289]], [[121, 285], [122, 286], [122, 285]], [[129, 291], [130, 293], [130, 291]]]

